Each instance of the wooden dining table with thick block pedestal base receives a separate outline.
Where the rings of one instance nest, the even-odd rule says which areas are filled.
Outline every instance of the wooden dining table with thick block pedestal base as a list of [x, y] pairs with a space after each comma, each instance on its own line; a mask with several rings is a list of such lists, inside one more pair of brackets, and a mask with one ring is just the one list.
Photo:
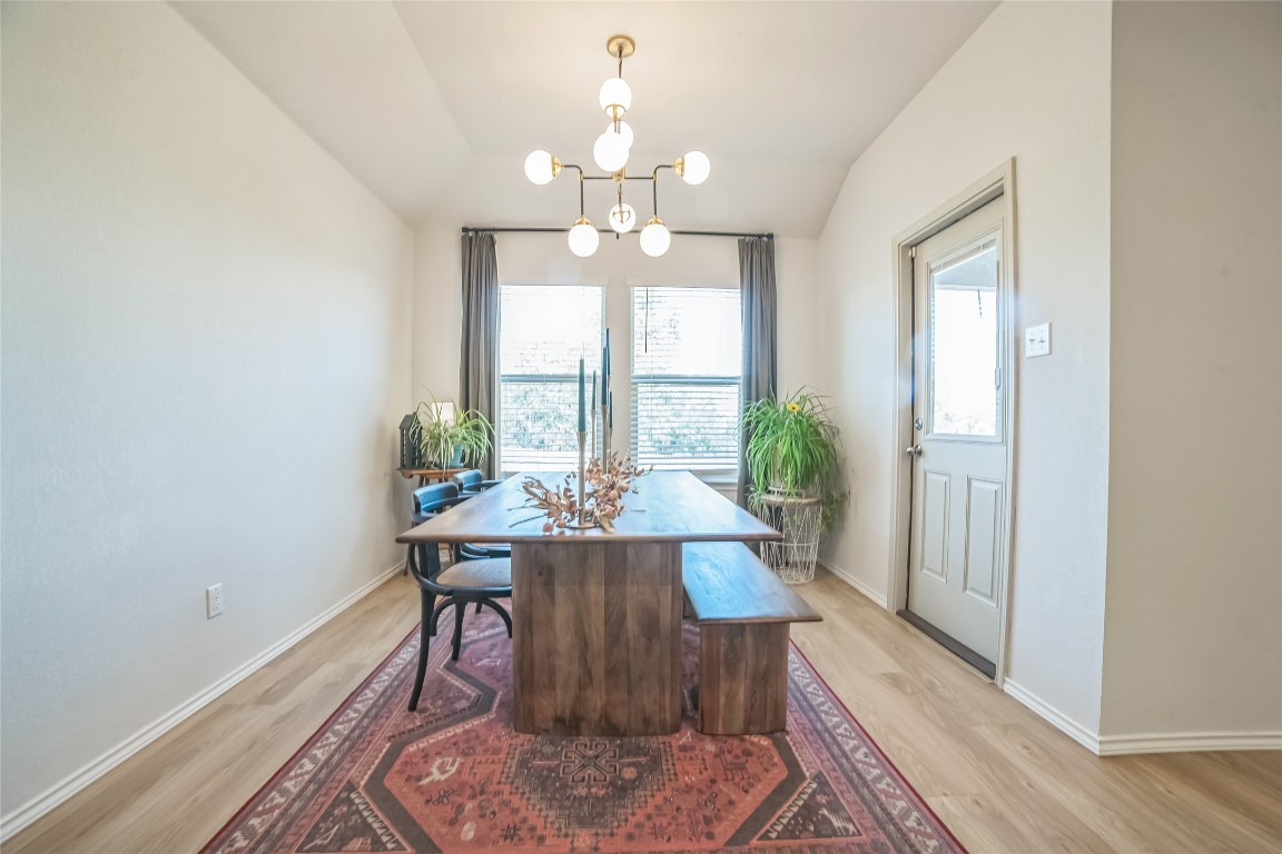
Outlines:
[[[681, 726], [682, 544], [782, 535], [686, 471], [654, 471], [614, 530], [558, 529], [522, 472], [396, 538], [512, 544], [513, 726], [541, 735], [659, 735]], [[573, 484], [573, 481], [572, 481]], [[577, 488], [577, 487], [572, 487]]]

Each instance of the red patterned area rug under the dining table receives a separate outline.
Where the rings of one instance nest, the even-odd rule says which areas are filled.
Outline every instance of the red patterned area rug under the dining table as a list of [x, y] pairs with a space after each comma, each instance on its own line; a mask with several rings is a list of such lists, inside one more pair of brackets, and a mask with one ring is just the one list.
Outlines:
[[788, 729], [658, 737], [512, 729], [512, 641], [469, 613], [463, 654], [433, 644], [405, 711], [415, 630], [204, 849], [301, 851], [962, 851], [794, 648]]

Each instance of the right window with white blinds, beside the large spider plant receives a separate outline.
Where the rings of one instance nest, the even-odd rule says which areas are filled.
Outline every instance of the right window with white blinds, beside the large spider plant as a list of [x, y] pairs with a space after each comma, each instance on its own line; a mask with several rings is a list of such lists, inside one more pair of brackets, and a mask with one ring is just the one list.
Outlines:
[[737, 288], [633, 288], [632, 455], [638, 465], [738, 466]]

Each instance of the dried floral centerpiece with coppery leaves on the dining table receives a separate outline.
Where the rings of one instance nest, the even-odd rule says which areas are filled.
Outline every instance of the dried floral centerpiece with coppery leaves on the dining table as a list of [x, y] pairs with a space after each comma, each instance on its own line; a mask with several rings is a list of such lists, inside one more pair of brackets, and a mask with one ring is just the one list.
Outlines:
[[[520, 489], [526, 493], [522, 507], [537, 507], [547, 520], [544, 533], [551, 534], [567, 528], [601, 526], [606, 533], [614, 531], [614, 520], [624, 511], [623, 497], [636, 493], [636, 480], [650, 471], [633, 465], [632, 457], [619, 457], [609, 453], [601, 460], [591, 460], [585, 466], [583, 480], [586, 490], [572, 487], [577, 472], [565, 475], [559, 487], [547, 487], [537, 478], [526, 478]], [[583, 495], [582, 503], [579, 495]], [[537, 516], [535, 517], [537, 519]]]

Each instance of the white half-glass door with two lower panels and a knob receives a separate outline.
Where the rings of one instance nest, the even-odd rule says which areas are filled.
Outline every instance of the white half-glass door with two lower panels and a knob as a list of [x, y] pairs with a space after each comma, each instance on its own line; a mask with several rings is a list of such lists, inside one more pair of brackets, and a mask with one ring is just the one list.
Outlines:
[[956, 652], [990, 675], [1001, 631], [1006, 501], [1001, 239], [999, 198], [917, 246], [914, 421], [905, 449], [913, 458], [910, 618], [964, 647]]

